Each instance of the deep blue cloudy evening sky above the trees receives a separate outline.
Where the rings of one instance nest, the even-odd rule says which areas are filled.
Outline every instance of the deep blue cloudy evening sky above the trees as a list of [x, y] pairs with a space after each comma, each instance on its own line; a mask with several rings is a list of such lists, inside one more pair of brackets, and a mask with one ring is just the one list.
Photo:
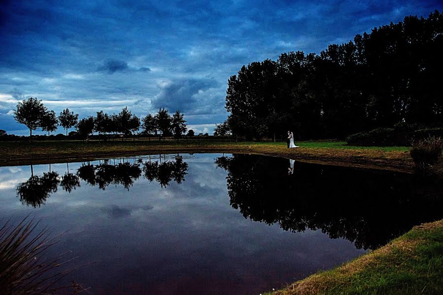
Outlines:
[[179, 110], [188, 129], [212, 134], [228, 116], [227, 81], [243, 64], [319, 54], [435, 9], [443, 10], [441, 0], [3, 0], [0, 129], [28, 135], [13, 111], [37, 97], [80, 118], [126, 106], [140, 118]]

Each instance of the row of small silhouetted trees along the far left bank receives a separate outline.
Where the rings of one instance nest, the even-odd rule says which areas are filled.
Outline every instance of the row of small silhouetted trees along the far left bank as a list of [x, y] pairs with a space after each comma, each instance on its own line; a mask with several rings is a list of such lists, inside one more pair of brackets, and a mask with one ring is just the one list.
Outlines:
[[[148, 114], [140, 119], [128, 110], [128, 107], [122, 109], [119, 114], [108, 115], [103, 111], [97, 112], [96, 117], [87, 117], [78, 119], [78, 114], [65, 109], [60, 112], [57, 117], [54, 111], [49, 111], [43, 105], [41, 100], [30, 97], [17, 104], [17, 109], [14, 111], [14, 118], [17, 122], [25, 124], [30, 130], [30, 138], [33, 130], [41, 128], [43, 131], [50, 132], [57, 130], [58, 126], [66, 129], [68, 136], [68, 129], [75, 127], [77, 134], [81, 138], [87, 138], [94, 132], [99, 134], [119, 133], [125, 136], [136, 134], [142, 128], [144, 134], [151, 135], [174, 135], [175, 138], [180, 138], [186, 132], [186, 120], [180, 111], [176, 111], [172, 116], [168, 110], [159, 109], [155, 115]], [[190, 130], [189, 134], [194, 135], [194, 131]]]

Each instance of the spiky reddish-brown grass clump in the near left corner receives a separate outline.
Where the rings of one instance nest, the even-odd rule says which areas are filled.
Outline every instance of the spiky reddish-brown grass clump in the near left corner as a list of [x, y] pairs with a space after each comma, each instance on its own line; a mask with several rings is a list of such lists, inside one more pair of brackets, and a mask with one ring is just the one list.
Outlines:
[[[45, 258], [45, 251], [57, 242], [50, 238], [47, 227], [34, 233], [39, 221], [25, 217], [17, 226], [8, 220], [0, 228], [0, 290], [4, 294], [54, 294], [55, 284], [71, 270], [64, 270], [61, 262], [64, 254]], [[59, 270], [60, 269], [60, 270]], [[72, 285], [74, 293], [78, 285]]]

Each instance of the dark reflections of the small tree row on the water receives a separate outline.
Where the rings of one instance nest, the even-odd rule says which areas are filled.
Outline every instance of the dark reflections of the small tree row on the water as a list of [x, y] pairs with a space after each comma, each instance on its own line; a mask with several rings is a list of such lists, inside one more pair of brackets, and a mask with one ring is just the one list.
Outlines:
[[110, 162], [110, 160], [103, 160], [97, 165], [90, 162], [82, 163], [76, 174], [69, 172], [67, 163], [67, 172], [62, 177], [59, 177], [57, 172], [45, 172], [43, 176], [34, 176], [31, 165], [31, 177], [17, 186], [17, 196], [20, 197], [23, 204], [40, 207], [45, 204], [51, 193], [57, 191], [59, 185], [70, 193], [80, 187], [80, 179], [92, 186], [98, 186], [102, 190], [111, 184], [122, 185], [129, 190], [143, 172], [145, 178], [151, 182], [157, 181], [163, 188], [169, 185], [172, 179], [180, 184], [185, 180], [184, 177], [188, 170], [188, 164], [181, 157], [170, 161], [166, 160], [166, 157], [162, 160], [160, 156], [159, 161], [149, 159], [145, 163], [141, 158], [137, 160], [137, 163], [123, 161], [123, 163], [115, 164], [115, 159], [113, 164]]

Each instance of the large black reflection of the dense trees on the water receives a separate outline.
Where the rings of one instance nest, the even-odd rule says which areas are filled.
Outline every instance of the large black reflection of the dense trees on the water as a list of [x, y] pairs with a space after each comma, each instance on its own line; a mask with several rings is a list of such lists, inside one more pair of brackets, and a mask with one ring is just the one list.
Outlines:
[[231, 206], [286, 231], [321, 229], [357, 248], [376, 248], [412, 226], [442, 217], [441, 183], [409, 175], [308, 165], [256, 155], [219, 157]]

